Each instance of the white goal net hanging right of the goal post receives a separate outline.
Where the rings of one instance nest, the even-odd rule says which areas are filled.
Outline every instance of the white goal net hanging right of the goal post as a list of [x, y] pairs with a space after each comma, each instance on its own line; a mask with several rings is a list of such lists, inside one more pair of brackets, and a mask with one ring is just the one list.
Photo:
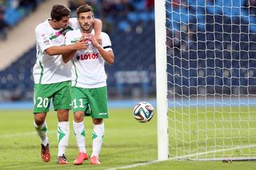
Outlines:
[[250, 2], [165, 1], [171, 159], [256, 158], [256, 8]]

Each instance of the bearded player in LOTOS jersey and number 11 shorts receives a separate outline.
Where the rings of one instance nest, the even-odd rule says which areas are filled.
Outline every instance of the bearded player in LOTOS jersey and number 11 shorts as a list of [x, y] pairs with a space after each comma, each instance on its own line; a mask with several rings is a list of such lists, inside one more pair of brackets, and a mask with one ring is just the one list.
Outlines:
[[77, 50], [63, 54], [63, 61], [72, 59], [71, 97], [74, 111], [74, 133], [78, 144], [78, 157], [74, 164], [82, 164], [88, 159], [85, 142], [84, 116], [90, 113], [93, 121], [93, 151], [90, 164], [101, 164], [98, 155], [102, 148], [104, 136], [103, 118], [108, 117], [105, 61], [114, 63], [114, 53], [108, 34], [102, 32], [102, 43], [96, 41], [93, 30], [94, 13], [91, 6], [78, 7], [80, 30], [72, 30], [66, 34], [66, 45], [80, 38], [88, 45], [86, 50]]

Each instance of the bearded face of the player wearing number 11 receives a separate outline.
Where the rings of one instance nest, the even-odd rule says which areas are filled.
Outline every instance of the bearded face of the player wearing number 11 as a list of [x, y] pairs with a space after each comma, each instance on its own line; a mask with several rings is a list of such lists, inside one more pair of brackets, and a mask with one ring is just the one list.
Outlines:
[[90, 32], [93, 28], [94, 15], [92, 12], [80, 13], [78, 16], [78, 22], [82, 30]]

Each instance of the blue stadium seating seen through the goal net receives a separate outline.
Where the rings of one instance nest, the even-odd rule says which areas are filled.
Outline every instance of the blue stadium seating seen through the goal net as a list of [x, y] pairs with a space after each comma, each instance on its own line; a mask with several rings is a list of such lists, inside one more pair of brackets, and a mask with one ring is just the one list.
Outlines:
[[174, 38], [167, 40], [172, 56], [168, 62], [174, 65], [167, 67], [174, 75], [169, 77], [170, 86], [175, 81], [177, 93], [188, 96], [200, 93], [200, 85], [207, 85], [207, 94], [230, 94], [234, 89], [255, 93], [250, 88], [256, 83], [255, 6], [251, 3], [248, 8], [246, 0], [186, 2], [166, 4], [166, 10], [172, 11], [167, 13], [167, 34]]

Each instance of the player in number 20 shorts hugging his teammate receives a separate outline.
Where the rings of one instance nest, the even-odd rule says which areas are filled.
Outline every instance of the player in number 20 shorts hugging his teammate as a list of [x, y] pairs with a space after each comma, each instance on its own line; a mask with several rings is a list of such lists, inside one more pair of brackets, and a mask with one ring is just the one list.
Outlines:
[[[46, 113], [50, 101], [58, 116], [58, 164], [68, 164], [65, 151], [70, 134], [69, 109], [71, 109], [71, 63], [62, 61], [63, 53], [86, 49], [86, 43], [78, 41], [73, 45], [64, 45], [65, 34], [79, 28], [76, 18], [70, 18], [70, 10], [63, 5], [54, 5], [50, 19], [35, 29], [37, 61], [34, 65], [34, 127], [42, 140], [41, 156], [50, 161], [49, 139], [46, 135]], [[93, 21], [95, 32], [100, 37], [102, 22]]]

